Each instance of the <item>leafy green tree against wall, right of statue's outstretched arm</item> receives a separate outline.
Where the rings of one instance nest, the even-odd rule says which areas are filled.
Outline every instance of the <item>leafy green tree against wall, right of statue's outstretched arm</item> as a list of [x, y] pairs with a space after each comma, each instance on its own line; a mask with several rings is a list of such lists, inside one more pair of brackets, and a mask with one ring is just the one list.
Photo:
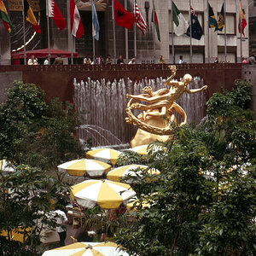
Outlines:
[[[231, 92], [215, 93], [207, 102], [206, 121], [197, 129], [201, 129], [208, 150], [218, 160], [230, 157], [230, 152], [245, 161], [256, 157], [256, 122], [253, 112], [247, 109], [252, 96], [251, 86], [237, 80]], [[222, 143], [218, 143], [219, 135], [224, 135]], [[210, 143], [210, 137], [216, 139]]]

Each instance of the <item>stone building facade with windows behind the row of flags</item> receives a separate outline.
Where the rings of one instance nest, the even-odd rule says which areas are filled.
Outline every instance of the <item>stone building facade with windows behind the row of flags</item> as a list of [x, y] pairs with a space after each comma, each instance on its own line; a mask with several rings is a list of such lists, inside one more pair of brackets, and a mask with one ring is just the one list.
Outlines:
[[[26, 22], [26, 49], [47, 48], [46, 2], [45, 0], [29, 0], [29, 2], [33, 3], [35, 6], [35, 15], [38, 20], [40, 20], [42, 34], [35, 35], [32, 31], [32, 26]], [[93, 57], [91, 7], [90, 0], [76, 0], [75, 2], [79, 8], [80, 16], [84, 24], [84, 36], [79, 40], [73, 39], [70, 34], [70, 22], [67, 22], [67, 27], [59, 32], [53, 20], [49, 19], [49, 41], [50, 48], [72, 50], [73, 47], [73, 50], [78, 52], [79, 55], [75, 63], [81, 64], [84, 56], [89, 55]], [[185, 20], [189, 21], [189, 0], [174, 0], [173, 2], [177, 5], [177, 9], [183, 14]], [[214, 15], [218, 20], [218, 14], [224, 0], [190, 0], [191, 7], [195, 10], [195, 14], [203, 29], [201, 40], [191, 39], [192, 58], [190, 58], [190, 38], [186, 35], [179, 37], [175, 34], [172, 35], [171, 0], [154, 0], [160, 26], [160, 41], [154, 31], [154, 23], [151, 18], [153, 0], [137, 0], [138, 7], [148, 24], [145, 35], [138, 29], [135, 29], [135, 26], [133, 26], [130, 31], [127, 31], [125, 28], [117, 26], [113, 22], [113, 0], [95, 0], [98, 20], [101, 27], [100, 40], [98, 42], [96, 41], [96, 56], [106, 56], [109, 54], [113, 59], [116, 59], [119, 55], [123, 55], [126, 63], [133, 57], [136, 57], [137, 63], [155, 63], [160, 55], [163, 55], [168, 63], [177, 63], [179, 55], [183, 55], [187, 63], [211, 63], [214, 57], [218, 57], [219, 61], [240, 62], [241, 56], [247, 57], [249, 55], [248, 6], [250, 6], [251, 11], [251, 7], [253, 6], [254, 8], [254, 5], [256, 6], [255, 1], [252, 1], [253, 3], [248, 3], [247, 0], [241, 1], [248, 24], [245, 27], [245, 36], [241, 38], [238, 32], [240, 1], [225, 0], [226, 40], [224, 30], [223, 32], [214, 32], [214, 28], [208, 29], [208, 2], [211, 4]], [[7, 9], [9, 9], [10, 18], [15, 25], [15, 35], [9, 37], [9, 34], [4, 30], [3, 24], [0, 24], [1, 64], [10, 64], [11, 51], [22, 49], [23, 45], [22, 12], [19, 7], [20, 0], [3, 0], [3, 3], [5, 3]], [[61, 10], [61, 14], [64, 18], [69, 20], [69, 0], [55, 0], [55, 3]], [[119, 0], [119, 3], [128, 11], [133, 12], [133, 0]], [[40, 8], [37, 9], [37, 6]], [[255, 41], [255, 38], [252, 40]], [[224, 44], [225, 41], [226, 48]], [[172, 55], [173, 50], [174, 56]]]

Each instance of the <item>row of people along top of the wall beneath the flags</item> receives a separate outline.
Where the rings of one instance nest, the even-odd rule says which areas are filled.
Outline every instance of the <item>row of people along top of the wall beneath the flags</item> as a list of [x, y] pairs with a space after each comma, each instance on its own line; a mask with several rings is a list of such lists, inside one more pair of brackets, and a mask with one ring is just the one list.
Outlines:
[[[218, 57], [215, 57], [213, 62], [214, 63], [223, 63], [222, 61], [218, 61]], [[94, 65], [94, 64], [96, 64], [96, 65], [120, 64], [120, 65], [122, 65], [122, 64], [125, 64], [125, 60], [124, 60], [122, 55], [119, 55], [119, 58], [116, 61], [116, 63], [114, 63], [114, 61], [111, 59], [110, 55], [107, 55], [106, 59], [104, 59], [102, 57], [102, 55], [99, 55], [98, 57], [95, 58], [95, 60], [90, 59], [90, 56], [87, 55], [84, 58], [83, 63], [84, 63], [84, 65], [86, 65], [86, 64], [90, 64], [90, 65]], [[157, 63], [158, 64], [165, 64], [166, 63], [163, 55], [160, 55]], [[183, 55], [180, 55], [178, 64], [184, 64], [184, 63], [186, 63], [186, 62], [183, 59]], [[230, 63], [230, 62], [228, 62], [228, 63]], [[255, 55], [251, 55], [248, 58], [242, 57], [241, 63], [242, 64], [256, 65]], [[49, 64], [50, 64], [49, 56], [47, 55], [45, 57], [45, 60], [44, 60], [44, 65], [49, 65]], [[61, 55], [57, 55], [57, 57], [55, 58], [55, 61], [53, 62], [53, 65], [63, 65], [63, 64], [64, 64], [63, 58], [61, 58]], [[131, 61], [127, 62], [127, 64], [136, 64], [136, 59], [132, 58]], [[38, 65], [38, 58], [35, 57], [34, 55], [32, 55], [31, 58], [27, 61], [27, 65]]]

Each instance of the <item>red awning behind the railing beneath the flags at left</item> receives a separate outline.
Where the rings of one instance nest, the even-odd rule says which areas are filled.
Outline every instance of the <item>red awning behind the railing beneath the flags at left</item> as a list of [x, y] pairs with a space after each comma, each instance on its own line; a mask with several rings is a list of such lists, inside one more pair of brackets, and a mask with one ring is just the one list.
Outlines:
[[[50, 57], [56, 58], [57, 55], [61, 55], [61, 58], [71, 58], [71, 52], [65, 51], [61, 49], [50, 49]], [[35, 57], [45, 58], [48, 55], [48, 49], [33, 49], [33, 50], [26, 50], [26, 58], [29, 59], [31, 56], [34, 55]], [[73, 57], [76, 58], [78, 56], [77, 52], [73, 53]], [[15, 51], [12, 53], [12, 60], [19, 60], [24, 58], [24, 51]]]

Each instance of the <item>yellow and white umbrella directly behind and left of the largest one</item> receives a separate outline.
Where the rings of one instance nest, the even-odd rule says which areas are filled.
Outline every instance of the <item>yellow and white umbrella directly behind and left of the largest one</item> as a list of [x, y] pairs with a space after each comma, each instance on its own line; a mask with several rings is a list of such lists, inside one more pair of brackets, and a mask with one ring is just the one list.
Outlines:
[[58, 166], [59, 171], [67, 171], [72, 176], [83, 176], [87, 172], [91, 177], [101, 176], [104, 172], [109, 172], [111, 166], [97, 160], [72, 160]]

